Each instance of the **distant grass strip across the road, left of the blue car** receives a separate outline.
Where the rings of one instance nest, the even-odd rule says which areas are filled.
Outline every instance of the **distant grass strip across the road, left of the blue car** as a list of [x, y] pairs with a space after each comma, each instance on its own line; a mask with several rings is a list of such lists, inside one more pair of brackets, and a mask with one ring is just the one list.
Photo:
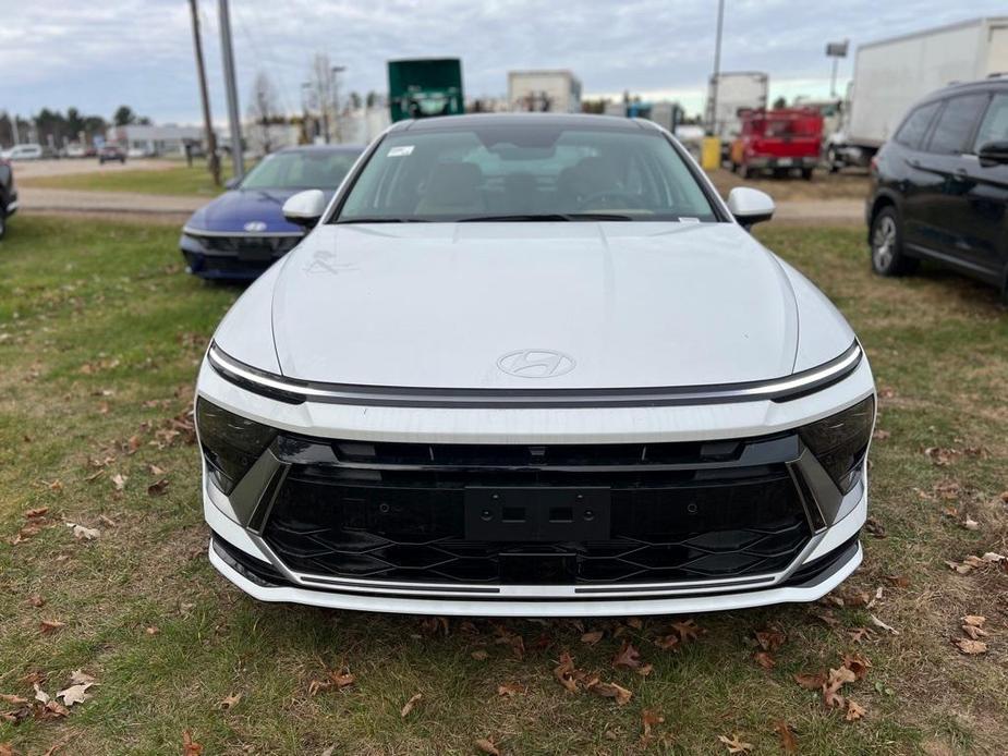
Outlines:
[[[231, 176], [230, 166], [221, 164], [221, 182]], [[66, 175], [38, 176], [19, 181], [25, 187], [81, 190], [85, 192], [130, 192], [134, 194], [181, 194], [214, 197], [223, 188], [215, 186], [202, 160], [192, 168], [179, 163], [165, 169], [92, 171]]]

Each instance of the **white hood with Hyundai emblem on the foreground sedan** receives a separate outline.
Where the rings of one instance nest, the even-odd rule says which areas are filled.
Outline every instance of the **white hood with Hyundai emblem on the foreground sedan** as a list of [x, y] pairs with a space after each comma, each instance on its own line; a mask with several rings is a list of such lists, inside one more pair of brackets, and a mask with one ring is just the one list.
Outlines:
[[[790, 375], [798, 355], [791, 279], [733, 223], [328, 224], [281, 265], [278, 367], [303, 380], [708, 386]], [[825, 317], [835, 356], [850, 331]]]

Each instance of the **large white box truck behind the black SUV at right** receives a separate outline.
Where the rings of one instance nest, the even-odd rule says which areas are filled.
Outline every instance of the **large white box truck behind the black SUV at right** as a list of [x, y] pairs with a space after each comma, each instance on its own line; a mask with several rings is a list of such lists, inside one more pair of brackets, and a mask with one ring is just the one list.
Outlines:
[[845, 126], [829, 137], [836, 169], [866, 166], [916, 100], [949, 84], [1008, 75], [1008, 16], [974, 19], [861, 45]]

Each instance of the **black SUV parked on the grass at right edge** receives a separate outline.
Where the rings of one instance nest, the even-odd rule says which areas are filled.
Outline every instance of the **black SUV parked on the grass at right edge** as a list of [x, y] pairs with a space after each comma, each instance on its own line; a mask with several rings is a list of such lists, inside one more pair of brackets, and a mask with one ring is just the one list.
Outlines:
[[872, 268], [936, 260], [1008, 301], [1008, 80], [937, 92], [914, 106], [872, 161]]

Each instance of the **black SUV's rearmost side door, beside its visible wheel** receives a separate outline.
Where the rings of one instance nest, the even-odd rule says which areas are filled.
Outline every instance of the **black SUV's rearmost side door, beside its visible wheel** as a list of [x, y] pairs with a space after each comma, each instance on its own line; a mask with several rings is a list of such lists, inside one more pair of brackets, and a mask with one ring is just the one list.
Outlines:
[[937, 181], [934, 174], [920, 169], [921, 150], [942, 105], [940, 100], [936, 100], [912, 110], [903, 119], [892, 142], [882, 151], [885, 168], [879, 174], [885, 176], [885, 187], [900, 197], [903, 243], [914, 248], [923, 245], [924, 224], [927, 222], [923, 202], [931, 192], [931, 184]]

